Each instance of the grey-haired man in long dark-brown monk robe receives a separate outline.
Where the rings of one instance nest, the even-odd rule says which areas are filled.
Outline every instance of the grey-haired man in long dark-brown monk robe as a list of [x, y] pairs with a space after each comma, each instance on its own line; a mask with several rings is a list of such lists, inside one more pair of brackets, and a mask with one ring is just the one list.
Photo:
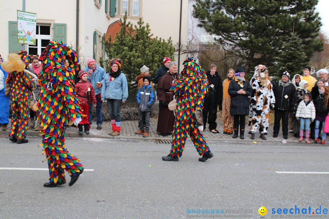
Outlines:
[[174, 82], [177, 76], [177, 63], [169, 63], [169, 72], [162, 76], [158, 82], [158, 100], [159, 100], [159, 119], [157, 132], [162, 136], [167, 136], [173, 130], [175, 115], [174, 111], [168, 109], [168, 104], [174, 99], [173, 94], [169, 91], [171, 83]]

